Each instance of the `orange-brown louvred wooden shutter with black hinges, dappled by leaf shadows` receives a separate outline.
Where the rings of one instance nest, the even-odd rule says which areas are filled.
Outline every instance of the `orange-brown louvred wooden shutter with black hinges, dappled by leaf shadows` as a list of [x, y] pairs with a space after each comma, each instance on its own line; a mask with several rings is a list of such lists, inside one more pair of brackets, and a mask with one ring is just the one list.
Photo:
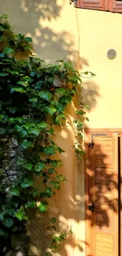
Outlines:
[[86, 256], [118, 254], [118, 135], [90, 134], [86, 159]]

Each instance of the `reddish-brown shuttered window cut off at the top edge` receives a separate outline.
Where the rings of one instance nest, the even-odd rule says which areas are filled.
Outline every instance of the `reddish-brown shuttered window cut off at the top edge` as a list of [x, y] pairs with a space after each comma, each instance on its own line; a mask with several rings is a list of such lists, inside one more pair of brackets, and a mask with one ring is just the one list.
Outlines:
[[75, 6], [78, 8], [122, 13], [122, 0], [75, 0]]

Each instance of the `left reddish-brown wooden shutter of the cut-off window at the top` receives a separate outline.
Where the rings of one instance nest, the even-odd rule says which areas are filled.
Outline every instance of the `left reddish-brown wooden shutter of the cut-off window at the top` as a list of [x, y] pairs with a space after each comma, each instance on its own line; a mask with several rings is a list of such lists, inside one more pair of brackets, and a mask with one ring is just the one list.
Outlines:
[[108, 9], [108, 0], [75, 0], [75, 6], [86, 9]]

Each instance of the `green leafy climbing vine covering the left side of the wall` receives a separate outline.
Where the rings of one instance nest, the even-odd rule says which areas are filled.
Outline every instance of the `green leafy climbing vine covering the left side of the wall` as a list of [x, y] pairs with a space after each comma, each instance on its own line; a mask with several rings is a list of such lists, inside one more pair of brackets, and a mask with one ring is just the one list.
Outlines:
[[[17, 55], [21, 53], [28, 60], [18, 61]], [[32, 55], [31, 38], [14, 34], [6, 15], [0, 17], [1, 255], [11, 252], [12, 236], [18, 233], [23, 233], [28, 243], [29, 210], [46, 213], [48, 198], [66, 180], [58, 173], [62, 162], [56, 155], [64, 150], [54, 142], [55, 127], [65, 125], [66, 109], [77, 94], [78, 84], [81, 84], [79, 73], [70, 61], [45, 65]], [[79, 104], [74, 121], [79, 139], [82, 139], [84, 114], [83, 105]], [[81, 160], [83, 148], [79, 140], [75, 150]], [[43, 182], [41, 190], [35, 185], [36, 177]], [[50, 226], [54, 227], [55, 222], [52, 217]], [[52, 236], [46, 254], [56, 253], [66, 236], [68, 232]]]

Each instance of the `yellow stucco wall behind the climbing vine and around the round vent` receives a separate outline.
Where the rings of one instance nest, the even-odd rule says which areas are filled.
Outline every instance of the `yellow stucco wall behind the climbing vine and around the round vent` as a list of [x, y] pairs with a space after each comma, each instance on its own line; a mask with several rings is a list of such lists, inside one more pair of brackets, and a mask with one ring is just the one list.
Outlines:
[[[68, 0], [1, 0], [15, 32], [30, 35], [34, 50], [46, 63], [71, 58], [79, 71], [91, 71], [94, 78], [83, 78], [83, 96], [91, 107], [87, 113], [91, 128], [121, 128], [122, 109], [122, 16], [87, 9], [75, 9]], [[113, 47], [116, 59], [106, 52]], [[68, 182], [52, 202], [62, 230], [72, 225], [74, 235], [61, 251], [63, 256], [85, 255], [84, 175], [76, 165], [72, 127], [57, 130], [57, 143], [65, 149], [63, 173]], [[83, 168], [81, 168], [83, 169]], [[60, 199], [59, 199], [60, 198]], [[74, 249], [75, 248], [75, 249]]]

